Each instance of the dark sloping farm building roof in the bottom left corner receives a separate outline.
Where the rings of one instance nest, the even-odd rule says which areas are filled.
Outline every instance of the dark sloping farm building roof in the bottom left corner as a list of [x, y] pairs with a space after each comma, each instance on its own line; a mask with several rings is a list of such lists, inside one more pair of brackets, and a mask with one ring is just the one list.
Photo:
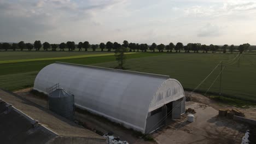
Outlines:
[[[12, 107], [10, 111], [8, 106]], [[37, 121], [38, 127], [33, 128], [32, 124]], [[77, 141], [86, 139], [100, 141], [98, 143], [106, 141], [93, 131], [2, 89], [0, 89], [0, 128], [3, 143], [46, 143], [50, 140], [54, 143], [56, 139]]]

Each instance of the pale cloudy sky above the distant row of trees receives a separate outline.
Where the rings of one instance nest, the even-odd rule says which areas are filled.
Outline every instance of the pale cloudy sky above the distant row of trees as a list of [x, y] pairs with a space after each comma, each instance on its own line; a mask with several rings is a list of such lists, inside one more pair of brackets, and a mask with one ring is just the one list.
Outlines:
[[0, 0], [0, 41], [256, 45], [256, 1]]

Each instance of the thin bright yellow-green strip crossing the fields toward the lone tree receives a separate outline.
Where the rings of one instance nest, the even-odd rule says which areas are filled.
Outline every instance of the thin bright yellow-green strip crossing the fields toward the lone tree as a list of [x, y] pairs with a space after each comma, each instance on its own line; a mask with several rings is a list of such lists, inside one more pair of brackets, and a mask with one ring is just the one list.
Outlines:
[[[136, 54], [136, 52], [129, 52], [126, 55]], [[68, 56], [68, 57], [50, 57], [50, 58], [32, 58], [32, 59], [15, 59], [0, 61], [0, 64], [4, 63], [19, 63], [19, 62], [32, 62], [32, 61], [48, 61], [48, 60], [60, 60], [60, 59], [73, 59], [73, 58], [85, 58], [85, 57], [100, 57], [100, 56], [113, 56], [115, 53], [101, 53], [93, 55], [79, 55], [79, 56]]]

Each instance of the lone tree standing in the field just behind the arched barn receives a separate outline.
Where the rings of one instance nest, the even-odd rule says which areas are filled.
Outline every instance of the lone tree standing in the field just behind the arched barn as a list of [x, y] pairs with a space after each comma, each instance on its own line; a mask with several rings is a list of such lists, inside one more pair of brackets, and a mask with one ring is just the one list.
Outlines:
[[125, 52], [127, 52], [127, 48], [124, 46], [118, 47], [118, 49], [115, 50], [115, 59], [118, 61], [118, 69], [124, 69], [126, 59]]

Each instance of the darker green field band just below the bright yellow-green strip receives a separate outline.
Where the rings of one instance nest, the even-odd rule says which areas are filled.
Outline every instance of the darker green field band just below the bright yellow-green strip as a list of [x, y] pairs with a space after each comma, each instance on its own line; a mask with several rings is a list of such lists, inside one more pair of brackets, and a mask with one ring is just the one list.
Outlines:
[[[152, 57], [158, 55], [165, 55], [165, 53], [136, 53], [132, 55], [126, 55], [127, 59]], [[77, 63], [77, 64], [93, 64], [104, 63], [113, 61], [115, 64], [114, 56], [97, 56], [86, 58], [74, 58], [74, 59], [60, 59], [60, 62]], [[38, 72], [46, 65], [56, 62], [55, 60], [48, 61], [34, 61], [34, 62], [19, 62], [19, 63], [5, 63], [0, 64], [0, 87], [8, 89], [9, 91], [15, 91], [18, 89], [32, 87], [34, 78]]]

